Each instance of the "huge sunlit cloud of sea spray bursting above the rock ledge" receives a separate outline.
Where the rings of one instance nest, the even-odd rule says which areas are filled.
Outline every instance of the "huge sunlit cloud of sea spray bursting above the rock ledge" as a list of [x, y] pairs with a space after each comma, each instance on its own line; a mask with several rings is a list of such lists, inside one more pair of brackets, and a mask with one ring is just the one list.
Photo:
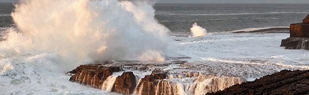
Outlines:
[[[58, 63], [164, 60], [169, 30], [154, 19], [148, 1], [22, 0], [11, 14], [1, 57], [33, 52], [59, 54]], [[73, 63], [73, 64], [72, 64]]]

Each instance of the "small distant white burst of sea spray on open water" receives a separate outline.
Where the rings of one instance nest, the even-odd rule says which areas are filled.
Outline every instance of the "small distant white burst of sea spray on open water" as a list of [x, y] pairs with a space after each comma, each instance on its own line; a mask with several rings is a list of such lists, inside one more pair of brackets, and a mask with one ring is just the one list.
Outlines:
[[192, 25], [192, 28], [190, 28], [190, 30], [193, 37], [205, 36], [207, 32], [206, 29], [198, 26], [196, 22]]

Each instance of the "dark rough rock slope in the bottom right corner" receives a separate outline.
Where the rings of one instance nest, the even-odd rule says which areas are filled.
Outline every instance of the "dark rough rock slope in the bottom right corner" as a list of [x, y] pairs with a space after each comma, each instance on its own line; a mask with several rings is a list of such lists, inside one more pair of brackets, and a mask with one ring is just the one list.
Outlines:
[[253, 82], [234, 85], [223, 91], [206, 95], [308, 95], [309, 70], [289, 71], [267, 75]]

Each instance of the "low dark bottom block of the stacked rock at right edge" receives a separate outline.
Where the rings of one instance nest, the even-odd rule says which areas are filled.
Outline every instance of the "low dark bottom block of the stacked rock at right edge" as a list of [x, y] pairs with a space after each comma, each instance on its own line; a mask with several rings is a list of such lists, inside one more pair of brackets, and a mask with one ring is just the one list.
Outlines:
[[309, 50], [309, 38], [290, 37], [281, 42], [281, 47], [286, 49], [307, 49]]

